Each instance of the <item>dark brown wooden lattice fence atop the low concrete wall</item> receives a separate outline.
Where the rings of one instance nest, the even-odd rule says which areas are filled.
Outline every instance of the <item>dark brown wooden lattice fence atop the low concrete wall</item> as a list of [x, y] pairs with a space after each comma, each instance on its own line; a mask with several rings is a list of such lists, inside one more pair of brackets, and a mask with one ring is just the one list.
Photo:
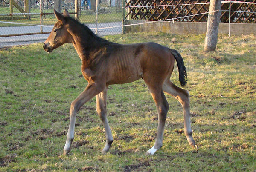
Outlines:
[[[237, 1], [256, 3], [256, 0]], [[209, 11], [209, 2], [210, 0], [125, 0], [125, 7], [127, 9], [125, 18], [166, 20], [201, 14]], [[229, 3], [222, 3], [221, 10], [224, 10], [221, 12], [221, 22], [229, 22]], [[231, 3], [231, 11], [256, 12], [256, 4]], [[207, 17], [208, 14], [201, 14], [175, 19], [175, 21], [207, 22]], [[231, 12], [231, 23], [256, 23], [256, 13]]]

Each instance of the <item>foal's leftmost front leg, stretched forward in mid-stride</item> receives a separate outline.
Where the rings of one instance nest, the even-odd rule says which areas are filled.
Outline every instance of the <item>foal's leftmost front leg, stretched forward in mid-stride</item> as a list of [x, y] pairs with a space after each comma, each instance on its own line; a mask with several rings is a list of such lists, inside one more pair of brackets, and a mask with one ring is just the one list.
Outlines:
[[91, 98], [102, 92], [105, 89], [104, 87], [96, 86], [96, 83], [88, 83], [86, 89], [71, 103], [70, 106], [70, 124], [68, 127], [67, 132], [67, 140], [65, 147], [63, 149], [63, 154], [66, 155], [70, 152], [71, 143], [74, 139], [74, 130], [75, 130], [75, 123], [76, 123], [76, 114], [87, 101]]

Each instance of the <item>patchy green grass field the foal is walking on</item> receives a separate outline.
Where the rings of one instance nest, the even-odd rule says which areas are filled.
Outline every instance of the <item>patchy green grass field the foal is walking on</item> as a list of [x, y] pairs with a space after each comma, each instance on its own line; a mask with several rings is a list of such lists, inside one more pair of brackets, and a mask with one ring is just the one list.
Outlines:
[[[181, 105], [166, 96], [163, 147], [153, 156], [145, 152], [154, 144], [157, 112], [143, 80], [109, 86], [114, 142], [107, 154], [101, 154], [105, 133], [93, 98], [79, 111], [70, 155], [63, 156], [70, 103], [87, 85], [73, 46], [51, 54], [42, 43], [0, 49], [0, 171], [255, 172], [256, 36], [219, 35], [216, 51], [208, 53], [204, 37], [157, 32], [105, 37], [117, 43], [154, 41], [184, 59], [199, 149], [192, 149], [183, 133]], [[176, 65], [171, 80], [180, 86]]]

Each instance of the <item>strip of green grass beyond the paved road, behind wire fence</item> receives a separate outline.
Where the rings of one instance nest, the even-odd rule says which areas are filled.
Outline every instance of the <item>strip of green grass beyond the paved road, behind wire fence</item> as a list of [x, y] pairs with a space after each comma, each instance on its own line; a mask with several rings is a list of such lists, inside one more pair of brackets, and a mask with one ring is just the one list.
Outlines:
[[[3, 14], [9, 14], [9, 7], [0, 7], [0, 11]], [[68, 10], [69, 12], [75, 12], [74, 10]], [[40, 9], [31, 9], [31, 13], [39, 13]], [[53, 13], [53, 9], [46, 9], [46, 13]], [[13, 13], [20, 13], [16, 8], [14, 8]], [[74, 15], [72, 15], [74, 16]], [[6, 16], [5, 16], [6, 17]], [[1, 20], [1, 17], [0, 17]], [[79, 20], [81, 23], [95, 23], [95, 12], [90, 10], [81, 10], [81, 15], [79, 16]], [[40, 25], [40, 15], [32, 15], [31, 20], [5, 20], [8, 22], [15, 23], [26, 23], [26, 24], [35, 24]], [[44, 25], [54, 25], [57, 19], [55, 15], [45, 15], [43, 16], [43, 24]], [[115, 8], [110, 8], [109, 13], [102, 14], [98, 13], [98, 23], [108, 23], [108, 22], [120, 22], [122, 21], [122, 12], [120, 10], [116, 13]], [[21, 24], [10, 24], [10, 23], [0, 23], [0, 27], [8, 27], [8, 26], [27, 26]]]

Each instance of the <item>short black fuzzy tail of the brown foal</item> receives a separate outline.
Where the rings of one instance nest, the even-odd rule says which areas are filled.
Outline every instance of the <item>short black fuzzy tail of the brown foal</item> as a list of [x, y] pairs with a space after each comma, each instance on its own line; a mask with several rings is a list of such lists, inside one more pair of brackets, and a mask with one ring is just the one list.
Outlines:
[[183, 58], [181, 57], [180, 53], [177, 52], [175, 49], [170, 49], [170, 51], [177, 62], [177, 66], [179, 69], [180, 84], [181, 86], [185, 86], [187, 83], [187, 80], [186, 80], [187, 74], [186, 74], [186, 67], [184, 66]]

